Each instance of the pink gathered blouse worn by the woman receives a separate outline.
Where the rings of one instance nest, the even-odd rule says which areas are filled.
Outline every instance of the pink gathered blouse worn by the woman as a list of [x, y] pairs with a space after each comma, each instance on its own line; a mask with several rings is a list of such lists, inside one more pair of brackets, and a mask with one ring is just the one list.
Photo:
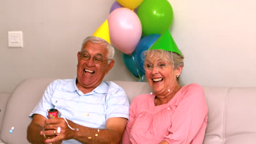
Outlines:
[[155, 106], [154, 98], [155, 94], [141, 94], [133, 99], [123, 144], [203, 142], [208, 108], [200, 85], [183, 86], [164, 105]]

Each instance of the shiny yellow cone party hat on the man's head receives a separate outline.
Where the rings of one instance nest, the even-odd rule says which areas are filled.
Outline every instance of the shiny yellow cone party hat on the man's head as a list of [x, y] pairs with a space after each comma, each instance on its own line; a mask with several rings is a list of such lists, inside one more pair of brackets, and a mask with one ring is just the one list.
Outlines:
[[110, 35], [109, 35], [109, 27], [108, 20], [102, 23], [102, 25], [92, 34], [92, 36], [100, 37], [110, 44]]

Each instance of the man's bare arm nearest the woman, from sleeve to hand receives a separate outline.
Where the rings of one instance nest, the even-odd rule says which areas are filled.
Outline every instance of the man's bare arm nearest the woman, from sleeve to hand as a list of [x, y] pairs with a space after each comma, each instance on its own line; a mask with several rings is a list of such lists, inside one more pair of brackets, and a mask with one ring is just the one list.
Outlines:
[[[57, 130], [56, 137], [45, 142], [54, 143], [56, 141], [75, 139], [82, 143], [119, 143], [121, 141], [127, 120], [125, 118], [109, 118], [106, 122], [106, 129], [94, 129], [84, 127], [68, 119], [52, 118], [45, 121], [45, 129]], [[53, 130], [46, 131], [45, 134], [53, 134]]]

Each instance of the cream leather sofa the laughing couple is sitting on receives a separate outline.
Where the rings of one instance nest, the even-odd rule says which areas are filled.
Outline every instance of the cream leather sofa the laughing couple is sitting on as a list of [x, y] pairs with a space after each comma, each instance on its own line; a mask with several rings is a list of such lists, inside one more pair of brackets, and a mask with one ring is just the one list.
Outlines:
[[[0, 92], [0, 143], [24, 144], [31, 119], [46, 86], [54, 79], [26, 79], [13, 93]], [[123, 87], [130, 101], [152, 90], [146, 82], [114, 81]], [[256, 87], [210, 87], [205, 89], [208, 127], [204, 144], [256, 143]], [[10, 130], [13, 129], [13, 133]], [[195, 143], [197, 144], [197, 143]]]

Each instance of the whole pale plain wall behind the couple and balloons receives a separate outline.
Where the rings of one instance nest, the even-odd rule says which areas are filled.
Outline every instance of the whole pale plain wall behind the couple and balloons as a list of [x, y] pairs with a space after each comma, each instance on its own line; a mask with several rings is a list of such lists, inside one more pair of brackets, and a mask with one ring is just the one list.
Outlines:
[[[0, 1], [0, 91], [13, 91], [27, 77], [74, 78], [82, 40], [107, 19], [113, 2]], [[256, 1], [169, 2], [171, 33], [185, 56], [184, 83], [256, 86]], [[8, 48], [8, 31], [23, 31], [23, 48]], [[119, 50], [106, 79], [138, 81]]]

